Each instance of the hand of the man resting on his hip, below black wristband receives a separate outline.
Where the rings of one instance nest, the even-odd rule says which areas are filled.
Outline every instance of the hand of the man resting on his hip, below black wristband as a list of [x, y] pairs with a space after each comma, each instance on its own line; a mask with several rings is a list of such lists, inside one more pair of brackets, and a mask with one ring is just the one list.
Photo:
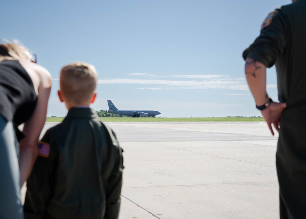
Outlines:
[[285, 108], [286, 108], [286, 103], [272, 102], [270, 106], [268, 106], [266, 109], [261, 111], [261, 114], [263, 115], [263, 118], [266, 120], [272, 135], [274, 135], [274, 132], [271, 124], [273, 124], [274, 128], [277, 131], [279, 130], [281, 114]]

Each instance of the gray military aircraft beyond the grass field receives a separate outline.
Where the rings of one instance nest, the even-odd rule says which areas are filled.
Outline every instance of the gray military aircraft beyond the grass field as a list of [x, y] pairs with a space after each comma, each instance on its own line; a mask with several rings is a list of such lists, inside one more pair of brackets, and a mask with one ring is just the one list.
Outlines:
[[107, 100], [108, 108], [107, 112], [114, 113], [118, 115], [131, 116], [131, 117], [148, 117], [148, 116], [157, 116], [160, 112], [155, 110], [119, 110], [113, 104], [111, 100]]

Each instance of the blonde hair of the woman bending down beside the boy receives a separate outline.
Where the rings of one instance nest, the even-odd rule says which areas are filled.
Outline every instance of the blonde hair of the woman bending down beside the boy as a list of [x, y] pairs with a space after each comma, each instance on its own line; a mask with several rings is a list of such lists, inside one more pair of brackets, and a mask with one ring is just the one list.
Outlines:
[[31, 52], [17, 41], [0, 44], [0, 62], [3, 60], [26, 60], [29, 59], [29, 54]]

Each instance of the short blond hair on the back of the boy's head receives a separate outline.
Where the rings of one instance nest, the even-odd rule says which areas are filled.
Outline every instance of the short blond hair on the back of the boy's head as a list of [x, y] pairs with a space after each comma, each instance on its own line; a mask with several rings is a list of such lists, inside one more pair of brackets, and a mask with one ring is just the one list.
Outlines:
[[97, 86], [98, 74], [88, 63], [73, 62], [62, 67], [60, 90], [65, 101], [83, 104], [91, 100]]

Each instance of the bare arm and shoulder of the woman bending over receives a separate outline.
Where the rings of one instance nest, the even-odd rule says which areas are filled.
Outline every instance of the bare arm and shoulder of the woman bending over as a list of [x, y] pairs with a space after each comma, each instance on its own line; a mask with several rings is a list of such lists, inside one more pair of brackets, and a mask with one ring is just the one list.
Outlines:
[[38, 93], [35, 110], [30, 119], [24, 123], [23, 133], [26, 137], [19, 142], [19, 169], [22, 186], [28, 179], [38, 154], [38, 139], [46, 121], [52, 79], [45, 68], [35, 63], [21, 62], [21, 65], [30, 75]]

